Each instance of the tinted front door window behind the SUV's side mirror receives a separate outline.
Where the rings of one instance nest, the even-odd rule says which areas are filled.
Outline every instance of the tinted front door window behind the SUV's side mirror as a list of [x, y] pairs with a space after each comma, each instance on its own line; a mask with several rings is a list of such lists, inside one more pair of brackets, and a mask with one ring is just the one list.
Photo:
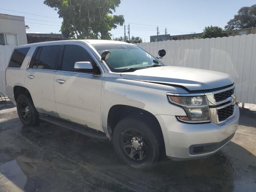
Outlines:
[[66, 45], [62, 60], [62, 70], [74, 71], [75, 62], [81, 61], [89, 61], [92, 66], [96, 66], [95, 61], [84, 48], [78, 45]]

